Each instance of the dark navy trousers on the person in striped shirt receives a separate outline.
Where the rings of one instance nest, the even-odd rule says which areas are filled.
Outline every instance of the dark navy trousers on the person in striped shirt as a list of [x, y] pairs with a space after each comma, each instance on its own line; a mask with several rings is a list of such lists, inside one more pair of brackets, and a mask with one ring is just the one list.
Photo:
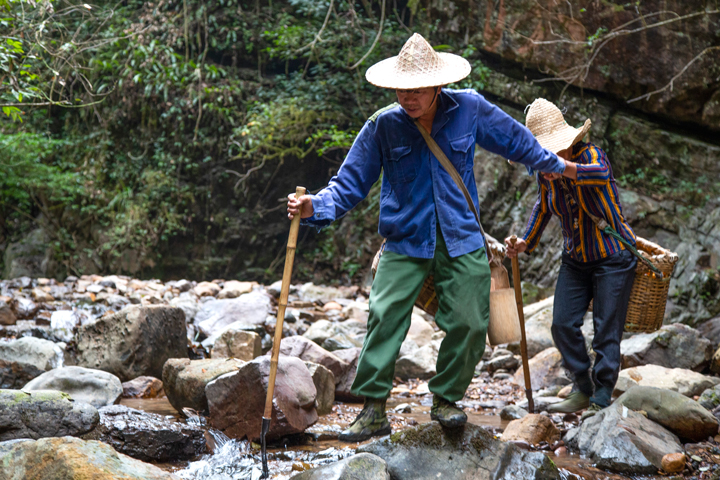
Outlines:
[[[627, 250], [593, 262], [578, 262], [565, 253], [562, 257], [555, 288], [553, 340], [575, 388], [601, 407], [610, 405], [620, 371], [620, 340], [636, 264], [637, 259]], [[596, 357], [591, 372], [580, 328], [593, 299]]]

